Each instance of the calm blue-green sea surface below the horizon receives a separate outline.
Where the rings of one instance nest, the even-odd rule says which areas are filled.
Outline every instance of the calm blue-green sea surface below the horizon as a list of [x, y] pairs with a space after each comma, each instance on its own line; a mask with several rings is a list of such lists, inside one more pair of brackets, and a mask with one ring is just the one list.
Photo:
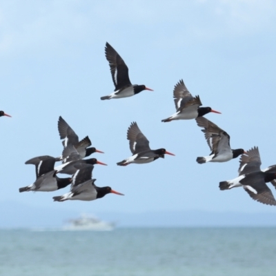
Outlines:
[[275, 276], [276, 228], [0, 230], [1, 276]]

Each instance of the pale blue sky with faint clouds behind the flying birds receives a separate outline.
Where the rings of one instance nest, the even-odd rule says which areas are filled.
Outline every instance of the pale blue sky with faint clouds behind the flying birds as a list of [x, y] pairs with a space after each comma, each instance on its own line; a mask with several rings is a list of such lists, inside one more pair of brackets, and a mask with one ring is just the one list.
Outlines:
[[[208, 155], [194, 120], [161, 123], [175, 112], [179, 79], [203, 106], [222, 114], [207, 119], [228, 132], [232, 148], [259, 146], [262, 168], [275, 156], [275, 1], [0, 1], [1, 199], [97, 213], [147, 210], [273, 212], [219, 181], [237, 176], [239, 159], [199, 165]], [[130, 81], [154, 92], [101, 101], [114, 90], [106, 41], [129, 68]], [[98, 186], [107, 195], [90, 202], [52, 202], [55, 193], [19, 193], [35, 180], [25, 161], [58, 156], [62, 116], [94, 154]], [[129, 157], [126, 131], [137, 121], [152, 149], [175, 153], [151, 164], [119, 167]], [[270, 185], [270, 184], [269, 184]], [[270, 185], [274, 195], [275, 189]]]

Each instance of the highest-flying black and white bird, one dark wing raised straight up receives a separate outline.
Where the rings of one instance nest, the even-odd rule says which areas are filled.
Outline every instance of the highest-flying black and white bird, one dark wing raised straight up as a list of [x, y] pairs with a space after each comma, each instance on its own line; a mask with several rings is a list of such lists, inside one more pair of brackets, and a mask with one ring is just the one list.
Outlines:
[[143, 90], [150, 90], [144, 85], [131, 84], [128, 77], [128, 66], [120, 55], [116, 52], [108, 42], [106, 42], [106, 59], [110, 66], [112, 81], [115, 85], [115, 92], [101, 99], [119, 99], [131, 97]]

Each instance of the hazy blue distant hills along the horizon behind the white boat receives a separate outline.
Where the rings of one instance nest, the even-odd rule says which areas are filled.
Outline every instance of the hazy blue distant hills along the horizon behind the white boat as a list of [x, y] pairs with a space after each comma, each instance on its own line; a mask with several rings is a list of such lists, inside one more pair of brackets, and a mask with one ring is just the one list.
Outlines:
[[[79, 217], [75, 210], [33, 208], [19, 203], [0, 202], [0, 228], [59, 227], [66, 220]], [[117, 221], [119, 227], [212, 227], [276, 226], [275, 213], [148, 211], [145, 213], [97, 213], [106, 221]]]

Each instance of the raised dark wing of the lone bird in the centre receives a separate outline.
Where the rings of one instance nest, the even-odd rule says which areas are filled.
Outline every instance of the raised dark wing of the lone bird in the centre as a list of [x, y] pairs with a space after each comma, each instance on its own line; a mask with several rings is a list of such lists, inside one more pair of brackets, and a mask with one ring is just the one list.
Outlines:
[[127, 138], [130, 141], [130, 151], [133, 155], [145, 150], [150, 150], [150, 142], [146, 139], [146, 136], [141, 132], [135, 121], [132, 122], [128, 128]]

